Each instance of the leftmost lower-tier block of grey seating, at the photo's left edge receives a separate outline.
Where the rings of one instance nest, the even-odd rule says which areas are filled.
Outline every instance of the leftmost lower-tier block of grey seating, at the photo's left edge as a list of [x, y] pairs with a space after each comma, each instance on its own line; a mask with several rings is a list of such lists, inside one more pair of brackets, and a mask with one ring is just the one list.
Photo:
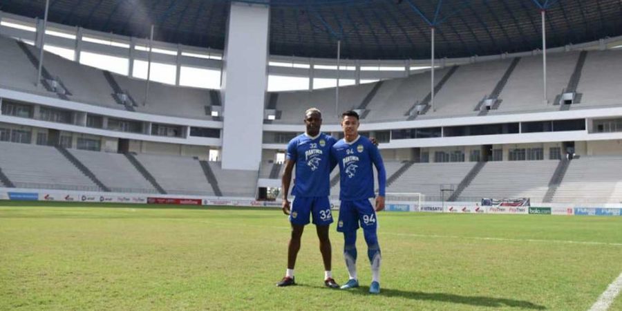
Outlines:
[[18, 188], [101, 191], [57, 149], [0, 142], [0, 167]]

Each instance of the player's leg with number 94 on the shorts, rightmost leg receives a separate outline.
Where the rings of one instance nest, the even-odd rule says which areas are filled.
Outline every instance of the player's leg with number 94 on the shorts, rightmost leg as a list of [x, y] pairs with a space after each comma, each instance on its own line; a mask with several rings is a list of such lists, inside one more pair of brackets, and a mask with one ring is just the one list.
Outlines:
[[382, 258], [377, 236], [378, 220], [369, 200], [359, 200], [356, 202], [356, 205], [360, 215], [365, 242], [367, 243], [367, 256], [372, 270], [372, 283], [369, 287], [369, 292], [377, 294], [380, 292], [380, 263]]

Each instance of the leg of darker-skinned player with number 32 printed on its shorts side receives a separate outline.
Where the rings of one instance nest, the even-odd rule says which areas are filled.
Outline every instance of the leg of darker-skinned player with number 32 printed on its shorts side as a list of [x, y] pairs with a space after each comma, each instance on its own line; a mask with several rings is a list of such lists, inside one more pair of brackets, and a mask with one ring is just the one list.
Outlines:
[[339, 288], [337, 282], [332, 278], [332, 246], [328, 235], [328, 229], [332, 223], [332, 213], [328, 197], [314, 199], [311, 215], [313, 216], [313, 223], [316, 225], [320, 253], [324, 262], [324, 285], [329, 288]]

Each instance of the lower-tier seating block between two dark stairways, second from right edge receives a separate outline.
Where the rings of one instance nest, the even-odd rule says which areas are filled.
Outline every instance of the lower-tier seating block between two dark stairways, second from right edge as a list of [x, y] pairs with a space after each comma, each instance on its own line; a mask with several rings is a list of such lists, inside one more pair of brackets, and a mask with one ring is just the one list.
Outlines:
[[558, 160], [487, 162], [458, 200], [531, 198], [542, 202]]

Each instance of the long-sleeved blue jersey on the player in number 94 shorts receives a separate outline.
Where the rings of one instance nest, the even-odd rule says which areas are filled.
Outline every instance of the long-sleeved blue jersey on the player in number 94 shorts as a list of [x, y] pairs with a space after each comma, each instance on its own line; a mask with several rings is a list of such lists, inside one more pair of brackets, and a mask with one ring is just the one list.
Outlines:
[[331, 149], [331, 156], [339, 161], [339, 200], [361, 200], [374, 197], [374, 172], [378, 170], [379, 196], [384, 196], [386, 171], [382, 157], [370, 140], [359, 136], [354, 142], [339, 140]]

